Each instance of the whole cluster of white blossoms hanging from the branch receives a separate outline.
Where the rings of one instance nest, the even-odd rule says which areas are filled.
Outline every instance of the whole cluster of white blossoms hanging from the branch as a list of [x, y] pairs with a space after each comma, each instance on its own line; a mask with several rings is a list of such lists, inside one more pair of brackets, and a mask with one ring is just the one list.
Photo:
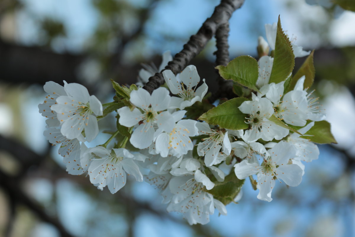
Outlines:
[[[259, 39], [263, 52], [275, 49], [276, 30], [275, 24], [266, 25], [268, 43]], [[310, 54], [291, 45], [294, 56]], [[140, 87], [156, 71], [145, 66], [139, 74], [139, 88], [119, 88], [128, 91], [127, 97], [118, 91], [116, 95], [122, 98], [104, 106], [80, 84], [47, 82], [48, 96], [39, 104], [39, 112], [47, 118], [44, 135], [60, 146], [70, 174], [86, 173], [98, 189], [107, 187], [111, 193], [124, 187], [131, 174], [138, 182], [155, 185], [167, 211], [181, 212], [190, 224], [208, 223], [216, 208], [226, 215], [225, 205], [241, 198], [240, 181], [252, 180], [253, 175], [257, 198], [271, 201], [276, 181], [299, 185], [305, 170], [302, 161], [318, 158], [317, 145], [301, 135], [324, 120], [325, 114], [317, 98], [304, 88], [305, 76], [288, 92], [285, 80], [270, 83], [274, 58], [267, 54], [258, 61], [257, 90], [234, 108], [245, 115], [242, 124], [247, 129], [229, 129], [189, 115], [192, 106], [209, 103], [204, 99], [208, 86], [195, 66], [187, 66], [177, 76], [163, 71], [168, 88], [160, 87], [152, 94]], [[159, 70], [171, 58], [169, 52], [164, 53]], [[97, 121], [105, 115], [103, 107], [109, 110], [111, 106], [118, 130], [104, 144], [87, 147], [99, 132]], [[299, 128], [290, 129], [287, 124]], [[127, 144], [138, 151], [126, 149]], [[214, 191], [230, 182], [239, 182], [232, 196]]]

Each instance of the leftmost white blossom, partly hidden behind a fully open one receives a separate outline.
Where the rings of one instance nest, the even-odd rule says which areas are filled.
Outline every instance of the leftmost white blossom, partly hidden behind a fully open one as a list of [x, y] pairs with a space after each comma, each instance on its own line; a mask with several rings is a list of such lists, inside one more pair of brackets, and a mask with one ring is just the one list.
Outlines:
[[53, 81], [47, 81], [44, 84], [43, 89], [48, 94], [45, 97], [43, 104], [38, 105], [39, 113], [41, 113], [43, 117], [47, 118], [45, 122], [47, 123], [48, 128], [57, 128], [60, 126], [60, 122], [57, 119], [57, 113], [53, 111], [51, 107], [54, 104], [57, 104], [56, 99], [59, 96], [66, 96], [67, 93], [65, 92], [63, 86]]

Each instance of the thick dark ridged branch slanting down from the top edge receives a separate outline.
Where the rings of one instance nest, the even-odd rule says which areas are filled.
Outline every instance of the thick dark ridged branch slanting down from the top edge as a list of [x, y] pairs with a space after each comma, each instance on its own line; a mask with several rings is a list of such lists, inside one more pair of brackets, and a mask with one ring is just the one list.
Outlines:
[[[191, 61], [199, 54], [206, 46], [207, 42], [216, 33], [217, 29], [227, 23], [232, 13], [240, 8], [244, 0], [222, 0], [218, 6], [215, 7], [214, 12], [210, 18], [202, 24], [197, 34], [190, 37], [189, 42], [184, 45], [184, 49], [175, 55], [173, 61], [165, 67], [164, 70], [170, 69], [176, 75], [182, 71]], [[156, 73], [149, 78], [148, 83], [143, 87], [149, 93], [152, 93], [160, 85], [164, 84], [164, 78], [161, 72]]]

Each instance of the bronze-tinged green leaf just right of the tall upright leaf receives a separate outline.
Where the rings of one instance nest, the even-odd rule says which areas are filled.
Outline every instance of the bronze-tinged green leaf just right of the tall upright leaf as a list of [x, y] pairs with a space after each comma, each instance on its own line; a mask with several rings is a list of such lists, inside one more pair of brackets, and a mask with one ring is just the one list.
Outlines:
[[302, 64], [301, 68], [297, 71], [297, 73], [293, 77], [291, 81], [291, 86], [289, 88], [290, 91], [293, 90], [298, 79], [300, 79], [302, 76], [306, 76], [304, 88], [307, 87], [310, 88], [313, 85], [314, 77], [316, 74], [316, 70], [313, 65], [313, 54], [314, 54], [314, 50], [310, 55], [308, 55], [307, 59]]

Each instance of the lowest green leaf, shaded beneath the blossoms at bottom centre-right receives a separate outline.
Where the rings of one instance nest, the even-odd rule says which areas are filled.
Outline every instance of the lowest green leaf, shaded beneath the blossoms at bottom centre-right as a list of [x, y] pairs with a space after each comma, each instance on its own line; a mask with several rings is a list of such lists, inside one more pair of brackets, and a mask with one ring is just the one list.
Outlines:
[[214, 198], [221, 201], [224, 205], [229, 204], [239, 194], [241, 187], [244, 184], [245, 179], [238, 179], [235, 176], [234, 171], [228, 174], [223, 182], [214, 182], [215, 186], [211, 190], [205, 190], [211, 193]]

